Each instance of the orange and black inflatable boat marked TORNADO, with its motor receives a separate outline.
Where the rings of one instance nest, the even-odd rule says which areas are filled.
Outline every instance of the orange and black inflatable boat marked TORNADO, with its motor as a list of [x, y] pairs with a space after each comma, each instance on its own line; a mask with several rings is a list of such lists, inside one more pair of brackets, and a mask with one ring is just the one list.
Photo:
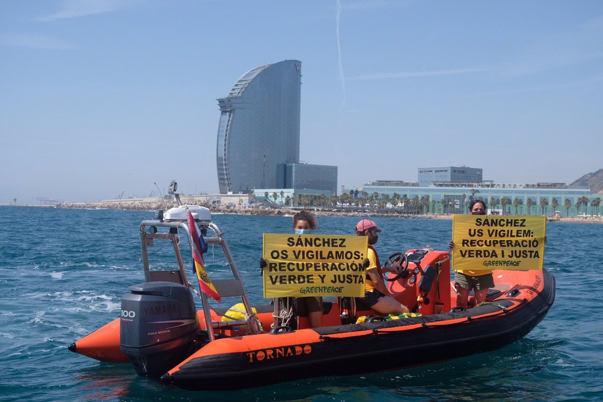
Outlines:
[[[234, 279], [215, 281], [216, 289], [224, 297], [240, 296], [241, 304], [215, 310], [201, 294], [203, 309], [195, 310], [177, 246], [178, 231], [189, 241], [190, 232], [172, 211], [172, 219], [140, 225], [147, 282], [128, 289], [121, 317], [69, 345], [71, 351], [102, 362], [131, 362], [139, 374], [180, 388], [245, 388], [491, 351], [528, 334], [554, 302], [555, 279], [546, 270], [495, 270], [496, 287], [485, 303], [453, 307], [449, 253], [411, 249], [403, 253], [408, 263], [402, 275], [389, 273], [387, 284], [412, 314], [381, 317], [360, 310], [353, 298], [336, 298], [324, 302], [323, 327], [309, 328], [303, 311], [283, 317], [287, 300], [251, 307], [223, 232], [211, 222], [209, 210], [195, 208], [199, 228], [213, 231], [205, 236], [207, 243], [222, 246], [233, 270]], [[150, 269], [150, 239], [172, 240], [179, 269]]]

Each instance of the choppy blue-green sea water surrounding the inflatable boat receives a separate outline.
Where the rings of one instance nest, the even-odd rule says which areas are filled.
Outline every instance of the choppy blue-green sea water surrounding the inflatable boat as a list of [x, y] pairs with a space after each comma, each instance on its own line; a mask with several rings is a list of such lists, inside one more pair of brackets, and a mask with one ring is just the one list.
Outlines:
[[[0, 207], [0, 400], [603, 400], [603, 225], [548, 224], [545, 267], [557, 278], [555, 304], [528, 336], [505, 348], [399, 371], [189, 392], [139, 377], [130, 365], [100, 363], [67, 349], [119, 317], [128, 286], [144, 282], [139, 223], [153, 217]], [[252, 303], [267, 302], [258, 268], [262, 233], [290, 232], [291, 217], [213, 220], [226, 233]], [[354, 234], [358, 220], [319, 217], [316, 232]], [[452, 232], [449, 220], [374, 220], [384, 229], [376, 244], [382, 258], [426, 245], [446, 250]], [[166, 252], [171, 247], [156, 240], [151, 261], [174, 267]], [[205, 258], [212, 278], [230, 272], [221, 251], [210, 247]], [[235, 303], [227, 299], [220, 307]]]

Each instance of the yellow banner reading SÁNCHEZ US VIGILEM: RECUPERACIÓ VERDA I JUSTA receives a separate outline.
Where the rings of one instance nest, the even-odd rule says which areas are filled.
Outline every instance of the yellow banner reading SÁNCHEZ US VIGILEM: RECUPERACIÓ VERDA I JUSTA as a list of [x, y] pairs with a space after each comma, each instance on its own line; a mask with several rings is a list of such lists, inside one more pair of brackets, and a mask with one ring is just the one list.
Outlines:
[[546, 217], [454, 215], [455, 270], [542, 269]]

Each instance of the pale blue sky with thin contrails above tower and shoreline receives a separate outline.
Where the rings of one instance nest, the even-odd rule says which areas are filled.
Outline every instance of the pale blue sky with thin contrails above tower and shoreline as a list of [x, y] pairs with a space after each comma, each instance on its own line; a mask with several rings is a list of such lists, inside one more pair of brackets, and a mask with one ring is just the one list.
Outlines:
[[339, 187], [603, 167], [603, 2], [0, 2], [0, 203], [218, 190], [219, 110], [301, 60], [300, 159]]

